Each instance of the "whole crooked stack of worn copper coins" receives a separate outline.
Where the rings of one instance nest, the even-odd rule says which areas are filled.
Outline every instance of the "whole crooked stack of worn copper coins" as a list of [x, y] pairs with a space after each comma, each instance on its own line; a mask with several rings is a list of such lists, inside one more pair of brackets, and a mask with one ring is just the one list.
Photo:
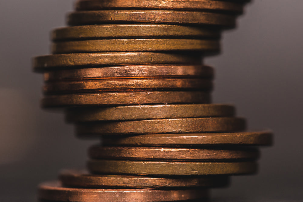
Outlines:
[[103, 137], [88, 171], [41, 184], [41, 201], [152, 202], [206, 199], [229, 176], [254, 174], [270, 131], [244, 132], [235, 108], [210, 104], [221, 31], [248, 1], [80, 0], [52, 32], [43, 108], [65, 109], [77, 136]]

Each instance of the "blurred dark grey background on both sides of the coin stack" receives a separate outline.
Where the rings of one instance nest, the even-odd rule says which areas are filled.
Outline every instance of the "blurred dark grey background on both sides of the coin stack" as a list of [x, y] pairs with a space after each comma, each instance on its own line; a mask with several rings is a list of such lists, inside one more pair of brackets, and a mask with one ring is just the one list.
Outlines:
[[[233, 103], [252, 129], [275, 132], [256, 176], [232, 177], [217, 201], [303, 200], [303, 1], [255, 0], [225, 31], [216, 68], [216, 103]], [[49, 54], [50, 31], [65, 25], [72, 0], [0, 0], [0, 201], [35, 201], [36, 186], [62, 168], [85, 167], [87, 148], [62, 114], [40, 109], [42, 75], [31, 58]]]

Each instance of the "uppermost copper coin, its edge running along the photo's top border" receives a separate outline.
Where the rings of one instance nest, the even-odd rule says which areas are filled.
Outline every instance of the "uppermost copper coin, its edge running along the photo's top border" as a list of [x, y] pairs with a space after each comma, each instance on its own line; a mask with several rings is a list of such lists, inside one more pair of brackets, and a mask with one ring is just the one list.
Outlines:
[[159, 10], [209, 10], [218, 12], [241, 13], [241, 4], [214, 0], [80, 0], [77, 10], [109, 10], [109, 9], [159, 9]]

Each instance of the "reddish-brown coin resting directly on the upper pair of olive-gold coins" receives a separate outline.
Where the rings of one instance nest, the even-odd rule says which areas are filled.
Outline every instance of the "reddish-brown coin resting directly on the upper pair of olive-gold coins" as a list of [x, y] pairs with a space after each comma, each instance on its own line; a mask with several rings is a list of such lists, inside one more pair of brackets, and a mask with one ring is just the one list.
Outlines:
[[116, 23], [167, 23], [235, 26], [235, 16], [211, 12], [159, 10], [76, 11], [68, 15], [68, 25]]

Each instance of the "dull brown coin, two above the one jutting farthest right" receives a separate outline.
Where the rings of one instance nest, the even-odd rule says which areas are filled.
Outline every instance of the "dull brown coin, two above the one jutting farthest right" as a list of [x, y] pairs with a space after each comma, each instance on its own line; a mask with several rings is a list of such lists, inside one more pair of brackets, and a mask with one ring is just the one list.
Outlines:
[[159, 104], [132, 105], [110, 108], [71, 108], [68, 122], [128, 121], [162, 118], [231, 117], [235, 108], [223, 104]]

